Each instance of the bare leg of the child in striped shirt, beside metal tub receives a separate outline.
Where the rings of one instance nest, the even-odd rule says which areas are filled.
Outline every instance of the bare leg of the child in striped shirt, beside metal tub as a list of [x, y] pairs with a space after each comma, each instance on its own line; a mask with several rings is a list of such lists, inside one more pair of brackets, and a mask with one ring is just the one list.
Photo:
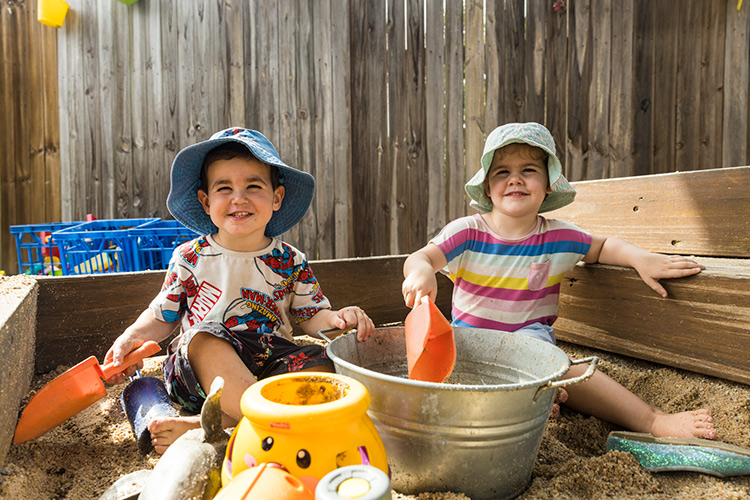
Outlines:
[[[588, 365], [572, 366], [563, 378], [580, 376], [587, 368]], [[586, 382], [565, 389], [568, 392], [565, 404], [571, 409], [632, 431], [648, 432], [656, 437], [716, 439], [708, 410], [664, 413], [598, 370]]]

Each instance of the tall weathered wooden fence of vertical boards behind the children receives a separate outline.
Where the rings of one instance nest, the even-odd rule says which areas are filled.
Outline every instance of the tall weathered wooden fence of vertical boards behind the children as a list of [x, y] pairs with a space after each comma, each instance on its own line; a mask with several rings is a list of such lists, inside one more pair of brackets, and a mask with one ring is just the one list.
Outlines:
[[10, 271], [9, 224], [169, 217], [174, 155], [228, 126], [316, 177], [285, 239], [317, 259], [421, 247], [508, 121], [545, 123], [570, 180], [750, 160], [737, 0], [69, 3], [56, 40], [35, 1], [0, 9]]

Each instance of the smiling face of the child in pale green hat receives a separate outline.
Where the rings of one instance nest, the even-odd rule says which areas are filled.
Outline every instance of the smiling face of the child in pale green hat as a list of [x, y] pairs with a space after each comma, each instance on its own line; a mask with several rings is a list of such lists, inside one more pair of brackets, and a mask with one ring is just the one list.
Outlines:
[[492, 210], [512, 217], [535, 215], [547, 193], [547, 154], [527, 144], [511, 144], [497, 151], [485, 179]]

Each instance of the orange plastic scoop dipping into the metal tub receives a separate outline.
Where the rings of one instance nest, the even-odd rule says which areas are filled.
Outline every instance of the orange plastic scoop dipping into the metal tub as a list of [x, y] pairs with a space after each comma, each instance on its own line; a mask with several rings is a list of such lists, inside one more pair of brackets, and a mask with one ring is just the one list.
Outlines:
[[406, 315], [406, 361], [409, 378], [442, 382], [456, 365], [453, 327], [429, 297]]

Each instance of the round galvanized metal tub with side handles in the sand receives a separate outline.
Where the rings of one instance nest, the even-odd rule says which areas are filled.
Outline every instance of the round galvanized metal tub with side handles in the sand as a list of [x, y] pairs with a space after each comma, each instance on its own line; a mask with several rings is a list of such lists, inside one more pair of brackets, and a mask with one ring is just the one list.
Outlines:
[[[396, 491], [454, 491], [472, 500], [513, 498], [531, 481], [558, 387], [587, 380], [595, 356], [570, 361], [522, 335], [457, 327], [456, 366], [444, 383], [408, 379], [404, 328], [378, 328], [366, 342], [334, 339], [338, 373], [370, 392], [368, 414], [385, 445]], [[560, 380], [571, 365], [580, 377]]]

